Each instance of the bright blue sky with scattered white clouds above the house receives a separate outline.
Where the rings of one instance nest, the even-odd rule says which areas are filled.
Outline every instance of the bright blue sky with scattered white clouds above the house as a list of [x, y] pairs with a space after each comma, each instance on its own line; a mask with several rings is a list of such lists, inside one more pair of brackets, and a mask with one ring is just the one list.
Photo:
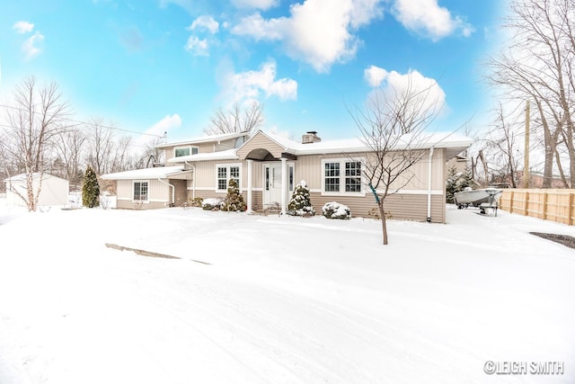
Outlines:
[[434, 85], [437, 129], [489, 121], [481, 60], [499, 0], [20, 0], [0, 13], [0, 100], [56, 82], [75, 119], [199, 136], [255, 99], [265, 128], [358, 136], [349, 108], [376, 87]]

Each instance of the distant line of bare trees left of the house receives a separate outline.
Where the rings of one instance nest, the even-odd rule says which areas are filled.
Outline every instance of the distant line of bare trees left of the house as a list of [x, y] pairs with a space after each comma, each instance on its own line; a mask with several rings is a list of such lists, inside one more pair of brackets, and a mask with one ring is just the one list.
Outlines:
[[11, 102], [0, 106], [0, 116], [3, 181], [15, 174], [48, 173], [79, 191], [87, 167], [98, 176], [146, 167], [160, 140], [136, 147], [131, 136], [102, 117], [74, 120], [57, 84], [40, 85], [33, 76], [15, 87]]

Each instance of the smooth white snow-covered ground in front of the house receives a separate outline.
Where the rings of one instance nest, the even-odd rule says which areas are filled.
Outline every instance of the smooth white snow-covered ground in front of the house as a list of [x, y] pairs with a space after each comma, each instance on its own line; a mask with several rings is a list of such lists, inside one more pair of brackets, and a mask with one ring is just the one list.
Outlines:
[[0, 200], [0, 383], [575, 382], [575, 250], [528, 234], [575, 228], [447, 210], [382, 246], [371, 219]]

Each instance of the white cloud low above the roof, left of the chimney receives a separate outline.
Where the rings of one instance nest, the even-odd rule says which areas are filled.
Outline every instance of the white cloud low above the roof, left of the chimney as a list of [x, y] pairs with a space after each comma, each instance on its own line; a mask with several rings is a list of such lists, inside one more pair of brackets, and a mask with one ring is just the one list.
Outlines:
[[276, 63], [269, 61], [259, 71], [247, 71], [226, 76], [226, 92], [232, 101], [258, 100], [277, 96], [280, 100], [296, 100], [297, 82], [289, 78], [276, 80]]

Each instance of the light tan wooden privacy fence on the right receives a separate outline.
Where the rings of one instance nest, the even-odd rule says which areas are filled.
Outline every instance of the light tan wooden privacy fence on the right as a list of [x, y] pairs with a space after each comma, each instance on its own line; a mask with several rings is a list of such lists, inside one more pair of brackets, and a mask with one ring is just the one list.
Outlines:
[[572, 226], [575, 224], [575, 190], [504, 189], [500, 209]]

